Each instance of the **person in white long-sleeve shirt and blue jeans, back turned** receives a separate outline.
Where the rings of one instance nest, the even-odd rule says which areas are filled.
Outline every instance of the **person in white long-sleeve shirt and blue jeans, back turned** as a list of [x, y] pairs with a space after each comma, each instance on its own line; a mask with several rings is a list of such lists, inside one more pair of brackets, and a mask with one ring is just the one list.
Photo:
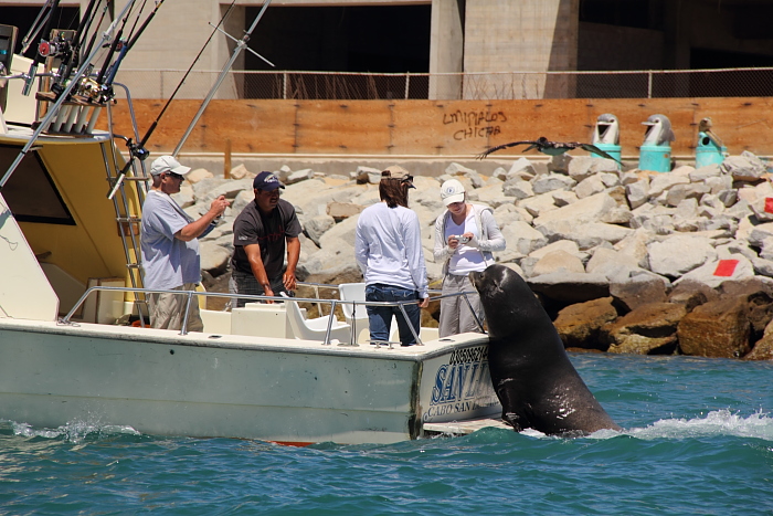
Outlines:
[[[430, 295], [419, 217], [407, 208], [407, 191], [415, 188], [412, 181], [407, 172], [382, 172], [381, 202], [366, 208], [357, 221], [354, 255], [366, 280], [366, 301], [414, 301], [403, 306], [419, 335], [420, 308], [427, 307]], [[367, 312], [371, 341], [389, 339], [394, 315], [400, 344], [416, 344], [399, 306], [367, 306]]]

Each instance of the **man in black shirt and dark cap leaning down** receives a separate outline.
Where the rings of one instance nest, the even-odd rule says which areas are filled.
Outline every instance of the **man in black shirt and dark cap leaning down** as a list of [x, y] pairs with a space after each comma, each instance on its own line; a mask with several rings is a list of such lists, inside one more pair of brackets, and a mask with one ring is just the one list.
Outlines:
[[[293, 204], [279, 199], [279, 190], [285, 186], [276, 176], [261, 172], [252, 186], [255, 201], [247, 204], [233, 223], [234, 253], [229, 291], [232, 294], [278, 296], [296, 287], [300, 222]], [[285, 242], [287, 270], [283, 274]], [[246, 303], [245, 299], [233, 301], [234, 307]]]

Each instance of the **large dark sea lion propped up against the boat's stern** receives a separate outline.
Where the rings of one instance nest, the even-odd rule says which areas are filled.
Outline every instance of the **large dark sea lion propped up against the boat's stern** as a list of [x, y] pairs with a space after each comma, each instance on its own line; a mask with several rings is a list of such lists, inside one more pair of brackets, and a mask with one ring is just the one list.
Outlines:
[[488, 324], [488, 367], [502, 419], [520, 432], [554, 435], [621, 430], [569, 360], [553, 323], [511, 268], [469, 274]]

